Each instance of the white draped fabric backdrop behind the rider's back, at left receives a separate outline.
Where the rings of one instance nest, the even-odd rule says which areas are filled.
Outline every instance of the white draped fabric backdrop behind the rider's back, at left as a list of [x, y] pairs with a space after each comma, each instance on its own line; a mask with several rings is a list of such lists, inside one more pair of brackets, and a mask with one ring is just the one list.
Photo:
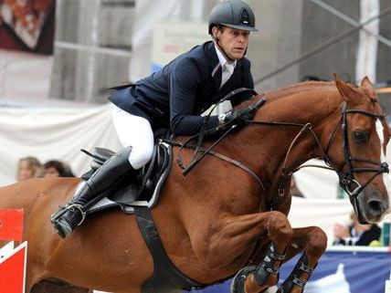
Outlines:
[[90, 159], [79, 150], [95, 146], [120, 150], [110, 104], [90, 109], [0, 108], [0, 185], [15, 182], [16, 163], [26, 156], [68, 162], [81, 175]]

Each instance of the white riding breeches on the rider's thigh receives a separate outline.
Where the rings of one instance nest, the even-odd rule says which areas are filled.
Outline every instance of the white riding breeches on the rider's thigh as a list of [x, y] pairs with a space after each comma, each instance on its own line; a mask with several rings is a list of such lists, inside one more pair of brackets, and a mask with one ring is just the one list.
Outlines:
[[151, 124], [143, 117], [112, 105], [112, 121], [118, 138], [124, 148], [132, 146], [129, 162], [134, 169], [140, 169], [149, 162], [153, 154], [153, 131]]

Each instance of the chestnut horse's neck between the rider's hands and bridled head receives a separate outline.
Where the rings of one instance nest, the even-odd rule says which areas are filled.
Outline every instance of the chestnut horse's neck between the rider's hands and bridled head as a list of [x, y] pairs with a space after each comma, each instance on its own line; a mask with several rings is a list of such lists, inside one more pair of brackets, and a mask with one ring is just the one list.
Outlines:
[[[311, 123], [312, 129], [319, 135], [325, 128], [325, 121], [330, 120], [333, 116], [331, 114], [336, 112], [339, 106], [340, 98], [334, 92], [336, 93], [335, 90], [328, 89], [291, 90], [285, 96], [283, 92], [272, 92], [272, 98], [257, 112], [254, 120], [302, 125]], [[297, 143], [291, 147], [300, 131], [301, 127], [298, 126], [251, 125], [232, 135], [227, 140], [227, 147], [233, 149], [232, 155], [237, 157], [238, 161], [246, 162], [262, 179], [275, 183], [280, 178], [282, 167], [292, 170], [321, 154], [309, 131], [304, 131]], [[291, 152], [287, 164], [284, 165], [290, 147]]]

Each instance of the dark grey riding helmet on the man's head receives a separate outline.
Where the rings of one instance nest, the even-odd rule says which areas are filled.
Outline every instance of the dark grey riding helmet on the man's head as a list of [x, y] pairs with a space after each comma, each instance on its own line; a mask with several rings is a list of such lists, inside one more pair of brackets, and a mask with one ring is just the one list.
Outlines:
[[216, 25], [258, 31], [251, 7], [241, 0], [224, 0], [213, 7], [209, 15], [209, 35]]

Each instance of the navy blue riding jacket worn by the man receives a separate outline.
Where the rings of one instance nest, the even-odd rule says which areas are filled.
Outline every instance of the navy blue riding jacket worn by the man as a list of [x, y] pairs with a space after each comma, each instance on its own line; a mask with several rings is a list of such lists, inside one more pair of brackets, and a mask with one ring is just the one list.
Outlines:
[[[238, 88], [254, 89], [247, 58], [237, 61], [234, 73], [224, 86], [222, 69], [212, 41], [174, 58], [164, 68], [128, 87], [118, 87], [110, 100], [117, 107], [151, 122], [153, 130], [170, 128], [174, 135], [193, 135], [206, 121], [200, 114]], [[232, 97], [233, 106], [253, 93]], [[217, 116], [206, 121], [206, 130], [217, 127]]]

